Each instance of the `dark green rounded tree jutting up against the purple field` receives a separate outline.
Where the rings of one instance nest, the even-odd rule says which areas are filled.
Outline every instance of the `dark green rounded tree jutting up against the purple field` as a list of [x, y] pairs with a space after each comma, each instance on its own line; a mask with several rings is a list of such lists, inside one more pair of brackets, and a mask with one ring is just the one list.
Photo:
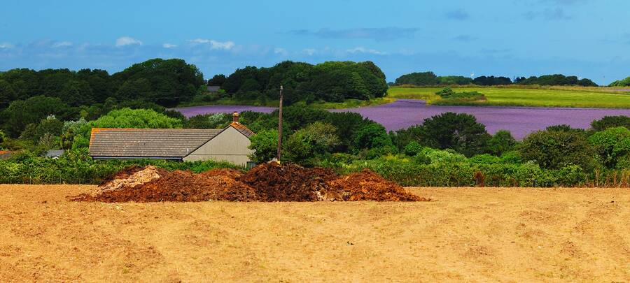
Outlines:
[[490, 135], [475, 116], [464, 113], [442, 113], [424, 120], [419, 128], [421, 145], [451, 148], [467, 157], [484, 153]]

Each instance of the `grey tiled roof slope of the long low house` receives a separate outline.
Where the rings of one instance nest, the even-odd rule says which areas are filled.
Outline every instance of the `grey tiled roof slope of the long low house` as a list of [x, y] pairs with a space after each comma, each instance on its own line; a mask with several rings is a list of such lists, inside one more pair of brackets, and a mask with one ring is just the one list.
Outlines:
[[92, 129], [92, 157], [186, 157], [222, 129]]

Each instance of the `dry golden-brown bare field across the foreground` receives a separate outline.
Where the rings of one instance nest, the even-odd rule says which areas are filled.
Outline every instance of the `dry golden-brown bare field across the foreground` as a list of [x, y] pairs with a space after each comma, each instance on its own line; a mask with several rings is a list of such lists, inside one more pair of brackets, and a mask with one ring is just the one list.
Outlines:
[[630, 282], [630, 189], [421, 203], [73, 203], [0, 185], [0, 282]]

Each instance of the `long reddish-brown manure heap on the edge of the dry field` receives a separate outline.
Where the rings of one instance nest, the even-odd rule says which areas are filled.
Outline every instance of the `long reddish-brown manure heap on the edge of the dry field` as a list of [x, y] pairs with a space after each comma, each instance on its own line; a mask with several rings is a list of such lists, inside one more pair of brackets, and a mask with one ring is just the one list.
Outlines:
[[71, 201], [138, 203], [159, 201], [429, 201], [364, 169], [337, 175], [326, 168], [261, 164], [243, 173], [214, 169], [195, 174], [155, 166], [129, 167], [107, 178], [90, 194]]

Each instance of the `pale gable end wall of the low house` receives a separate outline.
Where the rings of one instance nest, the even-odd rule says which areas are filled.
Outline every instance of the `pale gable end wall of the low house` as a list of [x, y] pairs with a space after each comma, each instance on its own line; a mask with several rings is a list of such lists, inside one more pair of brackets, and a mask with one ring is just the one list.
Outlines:
[[194, 152], [184, 157], [184, 161], [228, 161], [245, 166], [250, 161], [248, 155], [253, 151], [247, 147], [251, 144], [249, 138], [231, 126], [222, 131]]

